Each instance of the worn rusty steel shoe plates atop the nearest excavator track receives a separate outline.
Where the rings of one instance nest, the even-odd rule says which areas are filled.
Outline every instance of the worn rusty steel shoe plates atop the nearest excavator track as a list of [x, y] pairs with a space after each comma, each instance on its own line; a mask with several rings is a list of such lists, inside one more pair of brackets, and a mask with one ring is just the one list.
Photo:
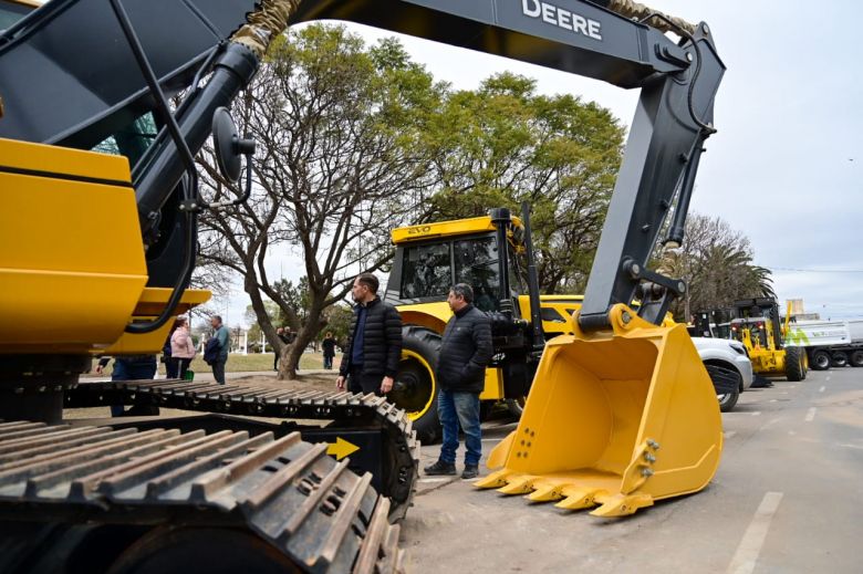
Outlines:
[[[401, 572], [398, 526], [389, 524], [389, 500], [371, 480], [299, 432], [275, 439], [271, 432], [0, 424], [6, 530], [28, 521], [240, 529], [303, 572]], [[0, 538], [0, 547], [17, 549], [13, 536]], [[15, 560], [30, 571], [15, 555], [0, 556], [0, 565], [13, 571]]]

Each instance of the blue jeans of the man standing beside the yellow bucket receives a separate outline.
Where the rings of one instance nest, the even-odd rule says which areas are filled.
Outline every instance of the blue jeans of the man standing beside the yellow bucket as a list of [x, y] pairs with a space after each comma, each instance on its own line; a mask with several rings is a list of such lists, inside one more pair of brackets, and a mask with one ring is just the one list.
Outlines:
[[465, 465], [479, 465], [482, 440], [479, 430], [479, 394], [440, 389], [437, 394], [437, 415], [444, 427], [440, 460], [456, 462], [458, 427], [465, 431]]

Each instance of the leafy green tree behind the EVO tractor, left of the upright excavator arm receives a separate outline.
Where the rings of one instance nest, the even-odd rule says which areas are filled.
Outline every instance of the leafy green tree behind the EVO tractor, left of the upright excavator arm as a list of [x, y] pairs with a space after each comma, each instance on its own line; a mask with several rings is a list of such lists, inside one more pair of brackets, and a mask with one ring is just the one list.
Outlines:
[[622, 158], [611, 113], [572, 95], [537, 94], [503, 73], [453, 93], [427, 134], [443, 189], [426, 220], [532, 210], [540, 289], [584, 288]]

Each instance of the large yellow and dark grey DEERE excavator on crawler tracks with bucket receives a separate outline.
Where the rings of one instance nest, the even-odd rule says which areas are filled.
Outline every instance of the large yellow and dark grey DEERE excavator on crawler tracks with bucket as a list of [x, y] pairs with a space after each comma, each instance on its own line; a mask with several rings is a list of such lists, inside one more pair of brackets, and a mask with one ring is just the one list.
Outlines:
[[[156, 353], [170, 317], [209, 296], [188, 288], [197, 217], [228, 206], [201, 197], [194, 157], [212, 135], [240, 180], [253, 144], [226, 108], [269, 42], [310, 20], [641, 88], [574, 334], [545, 345], [481, 486], [618, 515], [709, 482], [716, 396], [683, 325], [659, 326], [685, 285], [645, 268], [667, 216], [666, 243], [683, 240], [714, 133], [724, 65], [707, 24], [628, 0], [51, 0], [15, 20], [30, 4], [0, 2], [1, 571], [401, 570], [391, 521], [417, 445], [384, 399], [79, 380], [94, 355]], [[201, 414], [63, 420], [121, 404]], [[260, 417], [332, 422], [301, 437]], [[366, 441], [362, 463], [320, 442], [346, 432]]]

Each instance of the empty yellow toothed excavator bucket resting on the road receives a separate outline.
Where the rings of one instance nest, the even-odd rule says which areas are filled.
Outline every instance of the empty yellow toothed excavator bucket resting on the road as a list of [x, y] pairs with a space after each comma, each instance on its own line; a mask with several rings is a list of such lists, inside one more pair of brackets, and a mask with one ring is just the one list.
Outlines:
[[625, 305], [612, 332], [550, 341], [518, 429], [476, 482], [563, 509], [622, 516], [697, 492], [719, 466], [716, 392], [685, 325], [656, 326]]

